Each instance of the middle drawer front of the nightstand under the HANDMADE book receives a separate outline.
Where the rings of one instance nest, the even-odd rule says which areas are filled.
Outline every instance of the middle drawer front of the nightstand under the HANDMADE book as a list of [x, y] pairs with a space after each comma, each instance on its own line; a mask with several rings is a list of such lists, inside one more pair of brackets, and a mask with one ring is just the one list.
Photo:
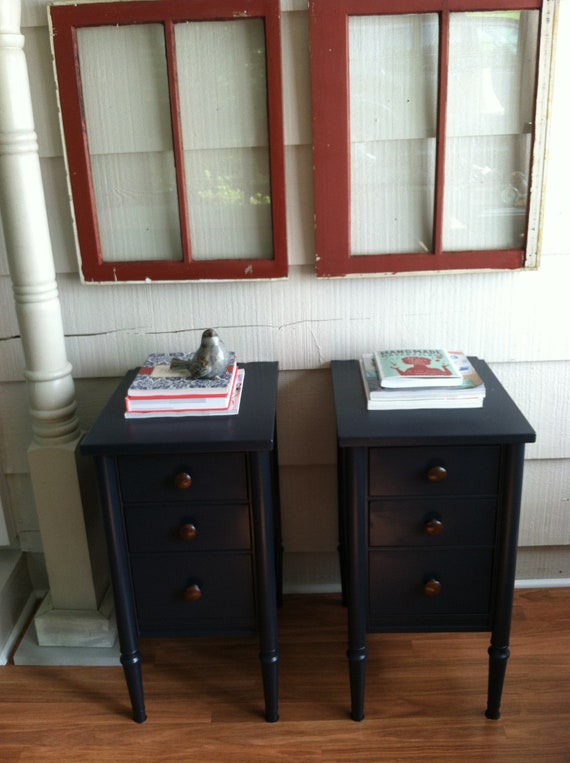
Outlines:
[[492, 546], [495, 498], [392, 498], [370, 504], [370, 546]]

